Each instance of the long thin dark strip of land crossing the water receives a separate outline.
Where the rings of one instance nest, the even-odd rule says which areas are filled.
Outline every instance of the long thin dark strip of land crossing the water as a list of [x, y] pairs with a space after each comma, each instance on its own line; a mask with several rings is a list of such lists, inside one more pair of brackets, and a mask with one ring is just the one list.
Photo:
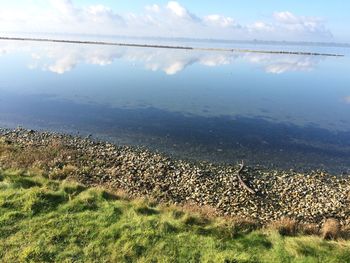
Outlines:
[[262, 54], [344, 57], [343, 54], [317, 53], [317, 52], [254, 50], [254, 49], [240, 49], [240, 48], [209, 48], [209, 47], [206, 48], [206, 47], [132, 44], [132, 43], [117, 43], [117, 42], [104, 42], [104, 41], [62, 40], [62, 39], [46, 39], [46, 38], [0, 37], [0, 40], [55, 42], [55, 43], [69, 43], [69, 44], [108, 45], [108, 46], [122, 46], [122, 47], [142, 47], [142, 48], [167, 48], [167, 49], [202, 50], [202, 51], [262, 53]]

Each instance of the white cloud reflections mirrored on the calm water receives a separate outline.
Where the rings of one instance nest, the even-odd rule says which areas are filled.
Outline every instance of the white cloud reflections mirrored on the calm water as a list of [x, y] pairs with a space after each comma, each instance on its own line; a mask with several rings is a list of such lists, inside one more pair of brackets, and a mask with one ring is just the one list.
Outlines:
[[148, 70], [163, 71], [167, 75], [178, 74], [194, 64], [217, 67], [234, 64], [237, 60], [258, 65], [266, 73], [281, 74], [293, 71], [311, 71], [323, 59], [315, 56], [283, 54], [202, 52], [52, 43], [49, 45], [35, 44], [33, 46], [23, 46], [19, 43], [16, 46], [13, 45], [13, 42], [0, 42], [0, 55], [20, 49], [31, 52], [33, 59], [31, 69], [37, 67], [57, 74], [69, 72], [79, 64], [105, 66], [112, 64], [118, 59], [123, 59], [130, 63], [141, 63]]

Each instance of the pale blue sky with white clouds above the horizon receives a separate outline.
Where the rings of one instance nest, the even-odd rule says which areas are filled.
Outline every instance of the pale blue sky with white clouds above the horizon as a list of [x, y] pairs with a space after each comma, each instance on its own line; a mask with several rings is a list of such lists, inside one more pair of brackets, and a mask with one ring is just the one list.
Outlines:
[[350, 1], [0, 0], [0, 35], [350, 42]]

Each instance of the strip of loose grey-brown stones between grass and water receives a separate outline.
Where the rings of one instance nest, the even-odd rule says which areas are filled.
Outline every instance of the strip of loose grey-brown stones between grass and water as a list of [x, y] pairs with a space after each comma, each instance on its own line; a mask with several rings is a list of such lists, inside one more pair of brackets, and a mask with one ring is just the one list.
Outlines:
[[[317, 224], [335, 218], [341, 225], [350, 224], [349, 175], [191, 163], [146, 149], [21, 128], [0, 129], [0, 142], [39, 150], [54, 142], [67, 153], [45, 164], [49, 171], [59, 174], [64, 167], [76, 167], [69, 175], [73, 179], [89, 186], [122, 189], [130, 196], [210, 206], [220, 215], [260, 224], [284, 217]], [[0, 159], [0, 168], [7, 165]], [[238, 173], [254, 193], [243, 187]]]

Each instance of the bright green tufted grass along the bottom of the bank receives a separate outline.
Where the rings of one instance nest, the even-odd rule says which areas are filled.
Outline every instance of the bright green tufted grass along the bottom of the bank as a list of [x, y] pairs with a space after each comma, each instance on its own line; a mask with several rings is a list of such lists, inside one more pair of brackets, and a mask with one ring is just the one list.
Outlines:
[[350, 262], [350, 242], [249, 224], [0, 171], [1, 262]]

